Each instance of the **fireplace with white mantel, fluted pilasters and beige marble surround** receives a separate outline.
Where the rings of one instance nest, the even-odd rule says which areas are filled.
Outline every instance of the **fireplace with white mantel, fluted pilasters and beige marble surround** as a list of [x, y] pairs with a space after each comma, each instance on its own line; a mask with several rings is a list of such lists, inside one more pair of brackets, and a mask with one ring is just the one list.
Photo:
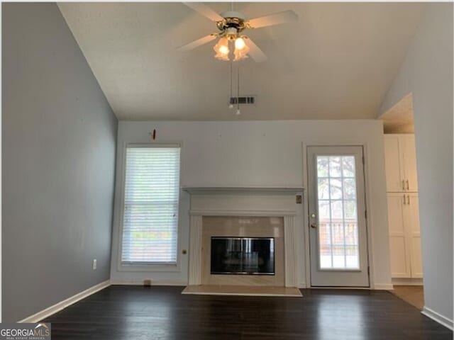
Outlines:
[[[184, 190], [191, 194], [189, 285], [297, 287], [301, 206], [294, 195], [302, 188]], [[244, 251], [248, 241], [253, 251]]]

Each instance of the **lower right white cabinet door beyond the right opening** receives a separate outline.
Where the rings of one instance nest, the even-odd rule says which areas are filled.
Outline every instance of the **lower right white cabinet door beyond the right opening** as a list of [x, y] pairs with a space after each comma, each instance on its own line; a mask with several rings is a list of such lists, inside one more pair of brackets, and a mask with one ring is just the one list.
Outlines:
[[421, 232], [419, 229], [419, 200], [417, 193], [408, 193], [407, 204], [404, 209], [404, 225], [409, 233], [411, 257], [411, 277], [423, 277], [423, 265], [421, 259]]

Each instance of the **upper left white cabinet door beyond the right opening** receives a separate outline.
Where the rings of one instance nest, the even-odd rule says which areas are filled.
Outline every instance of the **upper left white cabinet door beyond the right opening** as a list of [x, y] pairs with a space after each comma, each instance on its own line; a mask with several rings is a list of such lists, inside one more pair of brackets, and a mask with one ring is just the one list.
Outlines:
[[384, 135], [384, 162], [386, 166], [387, 192], [403, 191], [403, 169], [401, 169], [401, 152], [399, 152], [399, 136]]

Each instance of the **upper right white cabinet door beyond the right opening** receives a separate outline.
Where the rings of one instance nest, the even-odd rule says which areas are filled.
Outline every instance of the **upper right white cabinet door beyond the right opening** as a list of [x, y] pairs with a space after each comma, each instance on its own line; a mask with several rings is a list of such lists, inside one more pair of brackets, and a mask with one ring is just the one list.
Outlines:
[[402, 152], [402, 162], [404, 163], [401, 168], [404, 168], [405, 189], [406, 191], [418, 191], [414, 135], [399, 136], [399, 151]]

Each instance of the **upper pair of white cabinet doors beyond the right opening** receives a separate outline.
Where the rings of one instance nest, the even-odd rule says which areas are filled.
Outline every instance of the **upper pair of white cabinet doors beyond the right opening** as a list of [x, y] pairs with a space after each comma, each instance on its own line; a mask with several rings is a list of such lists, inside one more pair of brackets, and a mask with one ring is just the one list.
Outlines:
[[414, 135], [384, 135], [387, 192], [418, 191]]

